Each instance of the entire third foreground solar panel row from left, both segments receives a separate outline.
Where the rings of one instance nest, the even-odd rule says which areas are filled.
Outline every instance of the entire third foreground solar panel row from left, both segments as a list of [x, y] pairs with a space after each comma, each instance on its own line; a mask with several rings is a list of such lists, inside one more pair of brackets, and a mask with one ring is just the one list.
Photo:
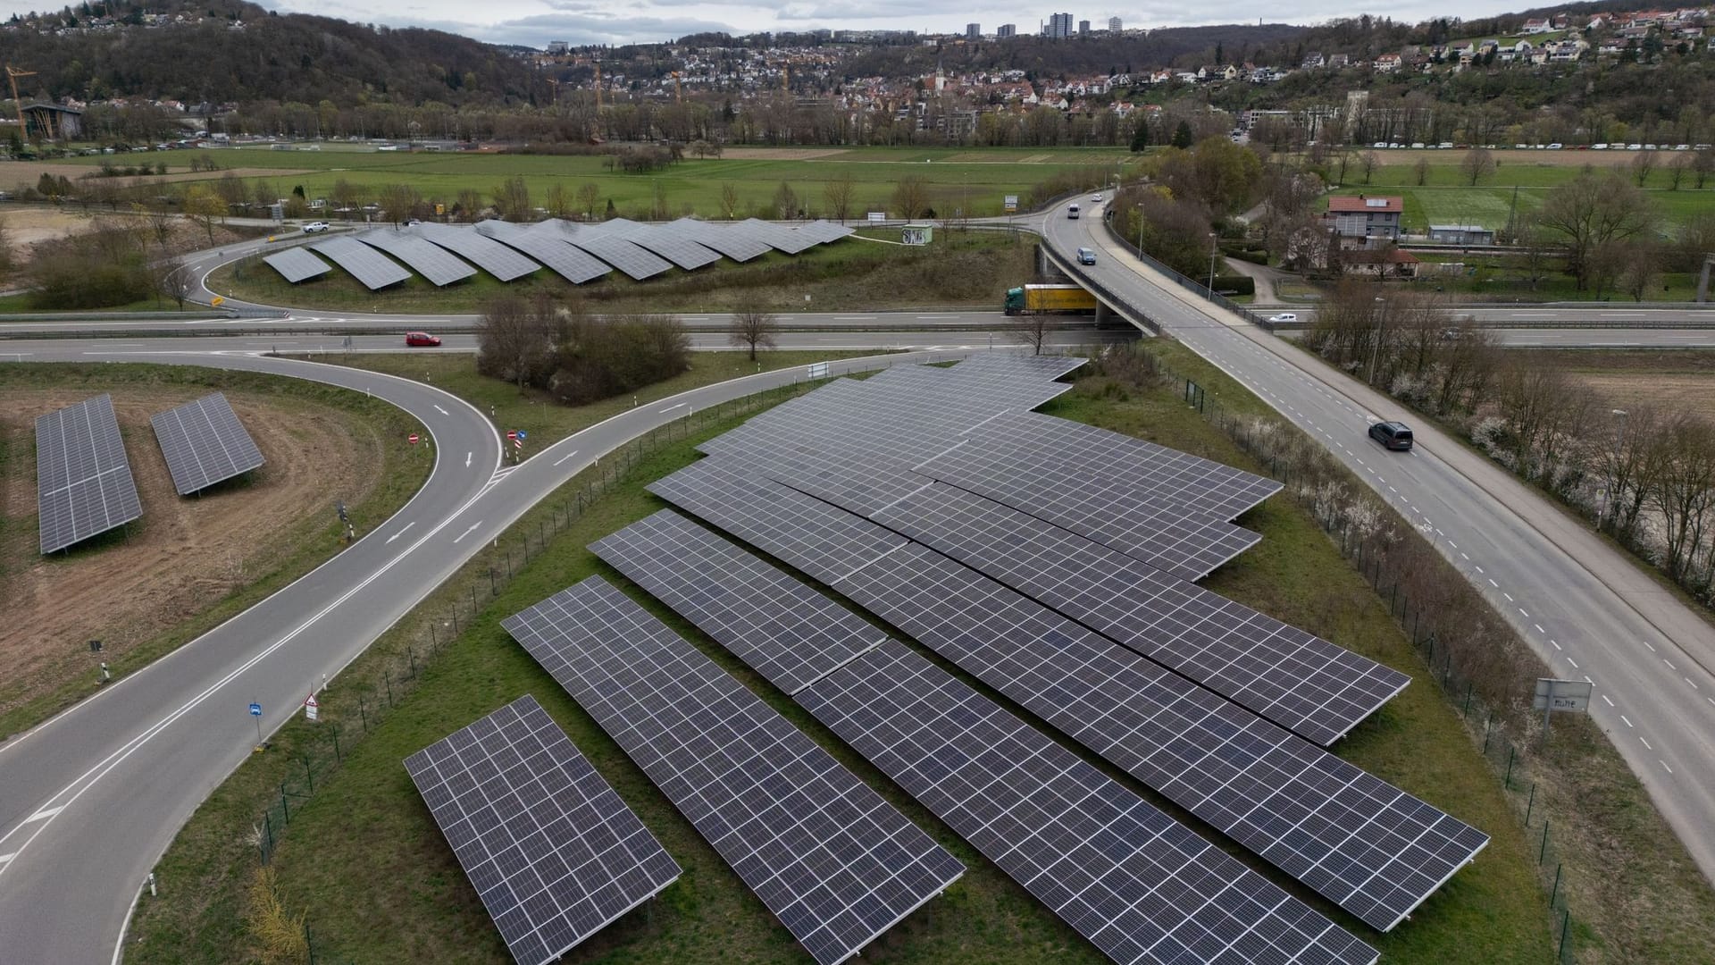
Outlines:
[[593, 549], [715, 637], [1116, 962], [1374, 950], [849, 610], [672, 512]]

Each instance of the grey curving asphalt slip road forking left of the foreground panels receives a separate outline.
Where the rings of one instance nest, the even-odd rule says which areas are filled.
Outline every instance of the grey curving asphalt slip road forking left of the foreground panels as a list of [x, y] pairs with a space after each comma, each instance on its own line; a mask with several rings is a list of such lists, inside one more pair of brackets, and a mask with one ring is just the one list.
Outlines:
[[[196, 807], [256, 745], [249, 704], [271, 733], [324, 678], [434, 591], [518, 515], [602, 453], [695, 409], [804, 378], [760, 373], [698, 388], [501, 467], [489, 419], [425, 385], [358, 369], [228, 352], [33, 343], [33, 361], [149, 361], [240, 367], [370, 391], [429, 429], [429, 482], [388, 520], [242, 615], [0, 743], [0, 962], [96, 963], [118, 938], [147, 872]], [[833, 362], [852, 371], [962, 352]], [[331, 507], [329, 507], [331, 512]], [[185, 888], [190, 883], [170, 883]]]

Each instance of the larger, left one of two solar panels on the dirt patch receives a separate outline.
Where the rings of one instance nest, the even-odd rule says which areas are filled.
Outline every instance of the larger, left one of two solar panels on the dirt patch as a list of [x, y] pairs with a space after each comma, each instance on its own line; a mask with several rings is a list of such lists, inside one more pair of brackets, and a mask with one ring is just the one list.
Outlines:
[[113, 397], [98, 395], [36, 419], [36, 507], [43, 553], [142, 515]]

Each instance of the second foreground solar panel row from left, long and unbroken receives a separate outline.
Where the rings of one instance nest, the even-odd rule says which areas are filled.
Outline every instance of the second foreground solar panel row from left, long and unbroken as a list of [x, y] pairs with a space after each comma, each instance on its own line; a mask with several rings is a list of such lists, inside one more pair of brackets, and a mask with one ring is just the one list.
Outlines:
[[785, 718], [600, 577], [502, 622], [818, 963], [960, 865]]

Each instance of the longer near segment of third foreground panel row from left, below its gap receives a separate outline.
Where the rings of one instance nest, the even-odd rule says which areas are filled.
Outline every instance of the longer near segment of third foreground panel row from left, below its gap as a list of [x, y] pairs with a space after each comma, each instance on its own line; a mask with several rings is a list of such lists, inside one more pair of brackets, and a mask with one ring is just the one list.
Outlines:
[[1115, 962], [1377, 960], [902, 644], [859, 656], [797, 702]]

